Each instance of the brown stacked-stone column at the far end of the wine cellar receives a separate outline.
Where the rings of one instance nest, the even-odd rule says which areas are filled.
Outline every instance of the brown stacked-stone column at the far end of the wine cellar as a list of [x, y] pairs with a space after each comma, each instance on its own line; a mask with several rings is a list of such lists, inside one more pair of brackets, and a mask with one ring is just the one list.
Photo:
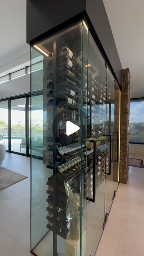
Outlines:
[[120, 182], [128, 181], [129, 158], [129, 119], [130, 119], [130, 71], [122, 70], [121, 91], [121, 132], [120, 132]]

